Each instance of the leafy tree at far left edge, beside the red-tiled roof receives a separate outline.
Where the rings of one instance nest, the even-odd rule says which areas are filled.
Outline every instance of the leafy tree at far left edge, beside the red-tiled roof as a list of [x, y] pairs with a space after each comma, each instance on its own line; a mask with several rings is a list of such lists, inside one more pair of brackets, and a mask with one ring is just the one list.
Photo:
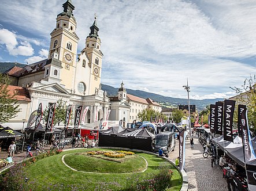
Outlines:
[[10, 80], [7, 75], [0, 74], [0, 122], [7, 122], [20, 112], [19, 104], [17, 104], [17, 91], [10, 93], [8, 85]]

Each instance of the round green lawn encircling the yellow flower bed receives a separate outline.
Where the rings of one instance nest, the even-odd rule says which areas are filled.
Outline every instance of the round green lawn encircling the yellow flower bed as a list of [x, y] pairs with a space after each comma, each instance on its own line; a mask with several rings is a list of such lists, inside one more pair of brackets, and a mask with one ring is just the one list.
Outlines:
[[[159, 164], [166, 163], [164, 159], [158, 156], [136, 152], [136, 157], [132, 157], [131, 161], [127, 160], [123, 163], [77, 155], [90, 150], [102, 149], [64, 151], [61, 154], [49, 156], [27, 166], [25, 173], [29, 178], [29, 187], [32, 190], [124, 190], [135, 179], [145, 179], [152, 174], [158, 173]], [[87, 172], [95, 170], [97, 173], [84, 173], [69, 169], [61, 160], [63, 155], [65, 155], [65, 162], [76, 170]], [[147, 170], [143, 173], [125, 173], [138, 171], [138, 169], [143, 170], [146, 167], [146, 162], [140, 156], [146, 159], [148, 163]], [[180, 190], [182, 179], [179, 171], [170, 163], [167, 164], [168, 169], [173, 170], [171, 190]], [[101, 174], [99, 172], [107, 172], [109, 174]]]

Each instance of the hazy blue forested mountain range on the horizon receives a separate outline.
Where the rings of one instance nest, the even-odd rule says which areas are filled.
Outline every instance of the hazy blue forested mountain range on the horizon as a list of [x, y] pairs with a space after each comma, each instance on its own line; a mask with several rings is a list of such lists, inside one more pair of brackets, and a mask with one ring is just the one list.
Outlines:
[[[118, 88], [102, 84], [101, 89], [104, 91], [107, 91], [107, 95], [109, 97], [117, 96]], [[132, 94], [133, 96], [141, 97], [141, 98], [151, 98], [151, 100], [154, 100], [158, 102], [160, 105], [169, 107], [169, 106], [177, 106], [177, 105], [188, 105], [188, 100], [183, 98], [175, 98], [175, 97], [167, 97], [167, 96], [161, 96], [159, 94], [155, 93], [149, 93], [147, 91], [142, 90], [132, 90], [132, 89], [126, 89], [128, 94]], [[223, 98], [217, 98], [217, 99], [205, 99], [205, 100], [191, 100], [190, 99], [190, 105], [195, 105], [198, 111], [203, 110], [207, 105], [215, 104], [217, 101], [223, 101]]]

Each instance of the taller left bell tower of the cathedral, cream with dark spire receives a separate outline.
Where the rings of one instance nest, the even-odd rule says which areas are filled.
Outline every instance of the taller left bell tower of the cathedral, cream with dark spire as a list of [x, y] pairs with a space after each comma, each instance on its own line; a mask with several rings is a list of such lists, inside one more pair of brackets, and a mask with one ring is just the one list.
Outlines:
[[[49, 48], [50, 58], [56, 58], [62, 63], [60, 71], [61, 84], [66, 89], [71, 90], [75, 80], [76, 54], [79, 37], [76, 35], [76, 19], [73, 16], [73, 6], [71, 0], [67, 0], [63, 5], [63, 12], [56, 18], [56, 26], [51, 32], [51, 42]], [[56, 54], [56, 52], [58, 54]]]

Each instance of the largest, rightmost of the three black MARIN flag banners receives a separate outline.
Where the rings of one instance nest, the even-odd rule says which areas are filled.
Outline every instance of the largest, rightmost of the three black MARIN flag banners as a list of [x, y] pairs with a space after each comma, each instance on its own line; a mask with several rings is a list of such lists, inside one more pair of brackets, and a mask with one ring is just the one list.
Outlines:
[[235, 110], [236, 101], [225, 100], [224, 101], [224, 121], [223, 121], [223, 136], [224, 140], [233, 142], [233, 116]]

